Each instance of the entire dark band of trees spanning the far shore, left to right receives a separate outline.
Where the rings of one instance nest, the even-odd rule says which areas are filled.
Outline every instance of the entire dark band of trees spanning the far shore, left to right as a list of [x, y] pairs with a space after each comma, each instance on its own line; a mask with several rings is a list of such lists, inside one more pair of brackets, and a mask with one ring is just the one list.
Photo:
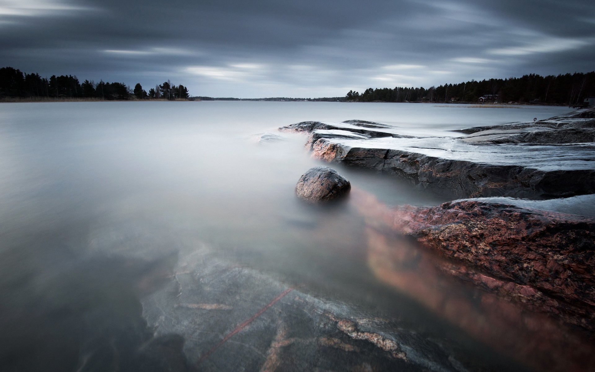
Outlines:
[[0, 68], [0, 102], [82, 102], [82, 101], [281, 101], [281, 102], [406, 102], [440, 104], [539, 104], [583, 106], [583, 100], [595, 96], [595, 71], [588, 73], [540, 76], [528, 74], [508, 79], [489, 79], [438, 87], [394, 87], [349, 90], [343, 97], [320, 98], [233, 98], [190, 96], [183, 85], [170, 80], [146, 92], [136, 83], [100, 80], [79, 82], [76, 76], [23, 73], [12, 67]]

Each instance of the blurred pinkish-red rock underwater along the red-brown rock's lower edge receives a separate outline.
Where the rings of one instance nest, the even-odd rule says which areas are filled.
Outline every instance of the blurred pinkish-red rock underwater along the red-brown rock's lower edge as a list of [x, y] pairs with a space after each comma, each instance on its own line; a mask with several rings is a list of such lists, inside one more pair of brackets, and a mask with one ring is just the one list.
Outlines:
[[443, 260], [413, 239], [396, 235], [396, 216], [371, 195], [355, 190], [368, 222], [368, 265], [378, 279], [494, 349], [543, 371], [590, 371], [595, 346], [560, 321], [527, 311], [456, 279], [464, 265]]

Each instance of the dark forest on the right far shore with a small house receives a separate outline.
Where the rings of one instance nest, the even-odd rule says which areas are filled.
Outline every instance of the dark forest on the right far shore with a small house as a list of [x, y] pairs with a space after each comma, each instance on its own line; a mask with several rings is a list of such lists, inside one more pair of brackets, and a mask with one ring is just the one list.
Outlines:
[[[595, 96], [595, 71], [590, 73], [540, 76], [528, 74], [508, 79], [471, 80], [438, 87], [368, 88], [363, 93], [349, 90], [346, 101], [357, 102], [477, 102], [490, 101], [575, 105]], [[497, 95], [497, 96], [496, 96]]]

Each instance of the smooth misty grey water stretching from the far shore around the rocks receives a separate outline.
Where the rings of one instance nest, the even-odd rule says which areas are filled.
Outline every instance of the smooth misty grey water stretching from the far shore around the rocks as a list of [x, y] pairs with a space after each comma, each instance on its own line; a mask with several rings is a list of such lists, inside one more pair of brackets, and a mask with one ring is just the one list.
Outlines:
[[[154, 267], [131, 268], [127, 260], [171, 261], [202, 244], [225, 260], [305, 283], [311, 293], [455, 337], [458, 325], [450, 329], [432, 309], [424, 312], [424, 299], [371, 273], [362, 219], [349, 203], [328, 210], [295, 198], [299, 176], [319, 165], [304, 151], [305, 137], [259, 144], [255, 135], [303, 120], [361, 119], [454, 136], [448, 131], [563, 112], [334, 102], [2, 104], [0, 370], [35, 369], [48, 355], [61, 367], [77, 365], [77, 342], [103, 331], [83, 330], [76, 319], [114, 298], [124, 307], [142, 296], [135, 281]], [[398, 180], [337, 169], [387, 204], [446, 201]], [[67, 336], [73, 333], [84, 335]], [[465, 337], [469, 358], [483, 358], [474, 336]]]

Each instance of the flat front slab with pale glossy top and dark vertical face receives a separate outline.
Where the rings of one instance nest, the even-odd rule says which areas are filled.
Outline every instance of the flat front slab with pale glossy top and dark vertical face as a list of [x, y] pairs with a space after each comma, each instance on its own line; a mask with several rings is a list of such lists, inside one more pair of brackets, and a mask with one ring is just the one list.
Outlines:
[[544, 199], [595, 192], [591, 144], [480, 148], [450, 138], [321, 138], [312, 144], [312, 157], [393, 174], [452, 198]]

